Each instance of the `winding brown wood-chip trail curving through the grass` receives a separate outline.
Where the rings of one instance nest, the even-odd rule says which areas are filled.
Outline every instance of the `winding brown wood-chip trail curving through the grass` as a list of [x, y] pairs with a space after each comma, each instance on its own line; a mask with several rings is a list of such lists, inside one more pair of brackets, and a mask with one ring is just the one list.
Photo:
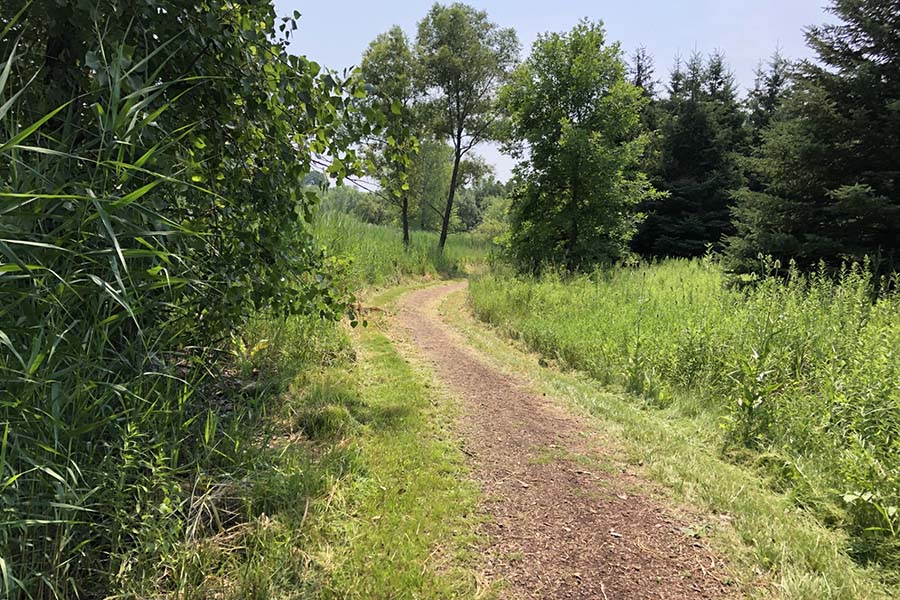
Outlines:
[[589, 426], [492, 367], [441, 321], [438, 305], [465, 285], [408, 294], [396, 321], [462, 398], [459, 433], [490, 516], [484, 569], [506, 580], [504, 596], [732, 596], [721, 561], [683, 533], [673, 511], [634, 495], [633, 475], [603, 468], [610, 453]]

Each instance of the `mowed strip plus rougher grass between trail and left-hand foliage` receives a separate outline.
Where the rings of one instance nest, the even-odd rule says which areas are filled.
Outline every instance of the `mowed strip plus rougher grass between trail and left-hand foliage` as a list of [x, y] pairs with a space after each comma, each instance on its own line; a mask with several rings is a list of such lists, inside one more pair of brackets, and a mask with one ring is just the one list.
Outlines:
[[[396, 297], [396, 290], [374, 302]], [[280, 378], [240, 464], [205, 474], [195, 535], [121, 597], [476, 598], [477, 488], [452, 401], [376, 324], [261, 319], [248, 372]], [[268, 340], [268, 343], [262, 343]]]

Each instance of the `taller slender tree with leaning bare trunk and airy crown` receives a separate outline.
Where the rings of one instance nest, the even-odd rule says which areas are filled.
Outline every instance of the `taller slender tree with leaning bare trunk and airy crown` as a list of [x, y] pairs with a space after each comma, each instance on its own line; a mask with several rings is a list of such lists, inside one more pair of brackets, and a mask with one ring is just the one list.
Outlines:
[[416, 53], [434, 133], [453, 147], [450, 187], [438, 245], [450, 230], [462, 159], [480, 142], [497, 137], [495, 95], [519, 54], [512, 29], [501, 29], [487, 13], [454, 3], [435, 4], [419, 23]]

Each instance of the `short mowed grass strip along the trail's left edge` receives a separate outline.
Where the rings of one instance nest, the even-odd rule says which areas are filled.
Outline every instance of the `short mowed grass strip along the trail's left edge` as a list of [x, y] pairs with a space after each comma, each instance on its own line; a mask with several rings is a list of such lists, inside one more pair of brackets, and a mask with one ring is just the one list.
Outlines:
[[477, 488], [450, 430], [454, 407], [388, 338], [358, 334], [356, 376], [371, 411], [359, 444], [365, 475], [343, 490], [329, 524], [333, 597], [474, 598]]

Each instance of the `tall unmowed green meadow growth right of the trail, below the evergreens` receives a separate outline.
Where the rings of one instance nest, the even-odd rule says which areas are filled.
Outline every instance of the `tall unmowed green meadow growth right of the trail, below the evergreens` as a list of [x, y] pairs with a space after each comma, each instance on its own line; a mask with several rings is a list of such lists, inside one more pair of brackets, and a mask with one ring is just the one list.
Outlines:
[[548, 357], [715, 415], [722, 447], [851, 534], [860, 560], [900, 566], [900, 296], [863, 269], [793, 273], [741, 291], [711, 261], [471, 286], [477, 315]]

